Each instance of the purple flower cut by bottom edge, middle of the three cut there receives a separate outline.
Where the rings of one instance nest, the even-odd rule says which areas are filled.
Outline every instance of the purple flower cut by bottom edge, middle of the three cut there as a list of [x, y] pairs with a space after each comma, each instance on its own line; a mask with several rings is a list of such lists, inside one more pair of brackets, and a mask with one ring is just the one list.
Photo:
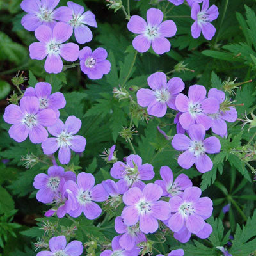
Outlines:
[[120, 237], [115, 236], [112, 240], [112, 250], [104, 250], [104, 252], [100, 253], [100, 256], [138, 256], [140, 252], [140, 248], [134, 247], [132, 250], [125, 250], [120, 246]]

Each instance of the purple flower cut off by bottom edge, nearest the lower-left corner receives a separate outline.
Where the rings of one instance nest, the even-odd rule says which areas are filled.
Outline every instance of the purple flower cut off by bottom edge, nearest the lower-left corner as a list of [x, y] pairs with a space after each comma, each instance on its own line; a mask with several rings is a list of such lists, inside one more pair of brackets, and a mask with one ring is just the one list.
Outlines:
[[49, 241], [50, 251], [41, 251], [36, 256], [80, 256], [83, 253], [83, 244], [74, 240], [67, 244], [65, 236], [52, 237]]

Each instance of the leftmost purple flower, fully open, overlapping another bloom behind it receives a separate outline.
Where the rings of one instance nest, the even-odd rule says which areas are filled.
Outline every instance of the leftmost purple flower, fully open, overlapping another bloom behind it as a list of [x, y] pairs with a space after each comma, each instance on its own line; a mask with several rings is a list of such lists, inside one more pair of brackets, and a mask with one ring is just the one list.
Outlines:
[[42, 143], [48, 137], [44, 127], [56, 123], [56, 115], [52, 109], [39, 111], [40, 104], [36, 97], [22, 97], [20, 106], [11, 104], [5, 108], [4, 121], [13, 124], [9, 135], [13, 140], [22, 142], [29, 139], [32, 143]]

